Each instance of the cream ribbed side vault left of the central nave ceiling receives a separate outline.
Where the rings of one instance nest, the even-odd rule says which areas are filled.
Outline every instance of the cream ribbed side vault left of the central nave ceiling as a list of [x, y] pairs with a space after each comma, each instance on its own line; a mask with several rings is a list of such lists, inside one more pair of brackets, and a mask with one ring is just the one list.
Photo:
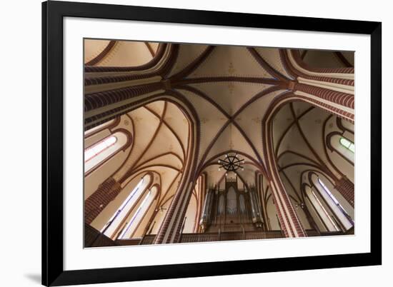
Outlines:
[[147, 171], [154, 173], [161, 206], [173, 196], [184, 171], [189, 121], [175, 104], [155, 101], [121, 116], [121, 123], [131, 130], [133, 144], [116, 176], [126, 183]]

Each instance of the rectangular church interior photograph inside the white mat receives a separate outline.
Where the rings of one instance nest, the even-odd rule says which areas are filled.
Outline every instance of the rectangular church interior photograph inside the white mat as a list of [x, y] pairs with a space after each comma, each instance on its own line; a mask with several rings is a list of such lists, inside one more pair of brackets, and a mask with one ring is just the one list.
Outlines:
[[84, 246], [354, 234], [354, 52], [84, 40]]

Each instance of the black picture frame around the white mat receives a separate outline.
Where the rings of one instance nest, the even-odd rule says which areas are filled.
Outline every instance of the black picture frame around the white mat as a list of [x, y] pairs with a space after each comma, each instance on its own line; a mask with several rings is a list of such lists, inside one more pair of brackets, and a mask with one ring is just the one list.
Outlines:
[[[64, 271], [63, 18], [121, 19], [371, 36], [371, 246], [369, 253]], [[382, 23], [219, 11], [86, 4], [42, 4], [42, 284], [140, 281], [382, 264]]]

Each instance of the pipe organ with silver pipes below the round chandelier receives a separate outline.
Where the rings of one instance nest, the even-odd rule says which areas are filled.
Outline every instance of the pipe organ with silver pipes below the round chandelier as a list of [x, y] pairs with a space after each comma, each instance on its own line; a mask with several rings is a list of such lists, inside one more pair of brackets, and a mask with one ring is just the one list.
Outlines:
[[225, 178], [225, 188], [207, 190], [199, 221], [202, 232], [264, 231], [262, 206], [254, 186], [239, 188], [237, 177]]

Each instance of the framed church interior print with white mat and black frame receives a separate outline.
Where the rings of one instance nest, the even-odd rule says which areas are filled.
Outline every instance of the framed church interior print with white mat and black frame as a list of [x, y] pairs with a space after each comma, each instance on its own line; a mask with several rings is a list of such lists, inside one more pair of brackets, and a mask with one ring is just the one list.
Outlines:
[[44, 285], [381, 264], [381, 23], [42, 19]]

